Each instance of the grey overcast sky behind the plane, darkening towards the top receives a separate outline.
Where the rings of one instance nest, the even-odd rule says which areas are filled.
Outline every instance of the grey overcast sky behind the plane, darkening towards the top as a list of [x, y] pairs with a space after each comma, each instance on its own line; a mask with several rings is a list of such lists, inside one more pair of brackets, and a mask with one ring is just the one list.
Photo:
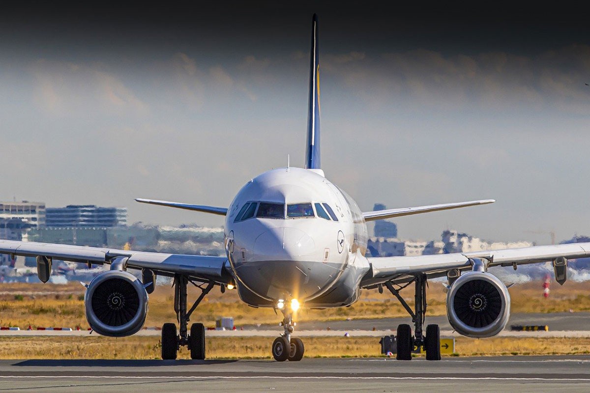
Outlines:
[[493, 198], [399, 235], [590, 235], [582, 11], [278, 3], [0, 7], [0, 200], [221, 226], [133, 199], [228, 206], [288, 154], [303, 166], [317, 12], [323, 169], [362, 210]]

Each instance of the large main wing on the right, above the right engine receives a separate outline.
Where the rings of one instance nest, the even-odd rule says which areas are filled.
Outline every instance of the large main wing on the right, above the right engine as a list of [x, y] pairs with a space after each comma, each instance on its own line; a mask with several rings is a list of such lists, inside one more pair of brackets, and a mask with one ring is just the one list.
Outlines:
[[453, 254], [370, 257], [368, 260], [371, 263], [371, 271], [363, 278], [361, 286], [366, 288], [392, 279], [408, 278], [419, 273], [426, 273], [428, 278], [441, 277], [446, 275], [447, 270], [471, 269], [473, 258], [487, 260], [489, 261], [487, 266], [491, 267], [549, 262], [558, 257], [566, 259], [590, 257], [590, 243]]

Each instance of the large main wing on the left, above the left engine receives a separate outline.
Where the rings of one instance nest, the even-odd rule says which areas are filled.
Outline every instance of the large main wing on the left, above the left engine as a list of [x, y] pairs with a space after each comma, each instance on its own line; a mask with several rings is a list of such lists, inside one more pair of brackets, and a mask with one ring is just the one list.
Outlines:
[[0, 240], [0, 253], [13, 256], [44, 256], [94, 265], [110, 264], [114, 258], [123, 256], [128, 258], [127, 267], [152, 269], [158, 275], [173, 276], [179, 273], [194, 279], [218, 283], [231, 282], [231, 276], [225, 267], [227, 258], [224, 256], [165, 254], [12, 240]]

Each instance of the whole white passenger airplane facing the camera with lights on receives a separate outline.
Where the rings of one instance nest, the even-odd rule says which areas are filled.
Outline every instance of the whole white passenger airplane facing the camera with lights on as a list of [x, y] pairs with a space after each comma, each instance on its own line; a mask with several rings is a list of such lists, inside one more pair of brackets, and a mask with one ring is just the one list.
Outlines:
[[[440, 328], [427, 325], [427, 280], [448, 279], [447, 317], [453, 329], [469, 337], [489, 337], [504, 329], [510, 316], [510, 295], [492, 266], [553, 263], [563, 284], [568, 259], [590, 256], [590, 243], [422, 256], [366, 257], [366, 222], [493, 203], [492, 199], [362, 212], [345, 191], [327, 180], [320, 154], [320, 89], [318, 18], [313, 15], [309, 114], [305, 167], [273, 169], [249, 180], [229, 207], [136, 199], [178, 209], [225, 217], [225, 256], [177, 255], [101, 247], [0, 240], [0, 253], [37, 257], [42, 282], [52, 260], [110, 265], [89, 284], [84, 308], [90, 327], [104, 336], [129, 336], [142, 328], [155, 276], [172, 277], [176, 323], [162, 326], [162, 359], [176, 359], [181, 346], [192, 359], [205, 359], [205, 328], [188, 322], [201, 300], [215, 286], [238, 291], [255, 308], [280, 311], [281, 333], [271, 352], [276, 361], [300, 361], [304, 344], [294, 337], [293, 316], [300, 308], [350, 306], [362, 289], [386, 288], [412, 318], [414, 333], [403, 323], [396, 331], [396, 358], [411, 360], [412, 350], [424, 349], [428, 360], [441, 359]], [[130, 270], [141, 270], [141, 278]], [[189, 308], [187, 286], [201, 294]], [[399, 290], [414, 284], [414, 307]]]

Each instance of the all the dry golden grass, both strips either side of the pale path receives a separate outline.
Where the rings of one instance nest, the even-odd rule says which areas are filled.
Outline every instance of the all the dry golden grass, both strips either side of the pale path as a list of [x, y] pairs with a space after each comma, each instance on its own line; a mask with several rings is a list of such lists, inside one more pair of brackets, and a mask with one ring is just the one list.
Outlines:
[[[588, 283], [568, 282], [564, 286], [552, 284], [551, 296], [543, 298], [542, 282], [514, 285], [510, 288], [512, 312], [563, 312], [590, 311]], [[402, 291], [409, 301], [413, 288]], [[446, 290], [440, 283], [431, 283], [428, 289], [428, 315], [445, 314]], [[192, 289], [194, 299], [198, 290]], [[172, 308], [173, 291], [158, 286], [150, 295], [146, 326], [161, 326], [175, 321]], [[303, 310], [296, 321], [330, 321], [345, 318], [384, 318], [406, 316], [404, 309], [388, 292], [363, 292], [358, 303], [349, 308]], [[276, 323], [280, 317], [271, 309], [254, 309], [242, 303], [237, 293], [219, 290], [209, 293], [201, 303], [192, 321], [214, 326], [219, 316], [233, 316], [237, 326], [247, 323]], [[84, 317], [84, 288], [78, 284], [2, 284], [0, 285], [0, 326], [87, 327]], [[278, 332], [278, 331], [277, 331]], [[237, 337], [207, 338], [208, 358], [270, 358], [271, 338]], [[306, 338], [306, 357], [316, 356], [381, 356], [378, 339], [371, 337], [316, 337]], [[459, 356], [470, 355], [527, 355], [527, 354], [590, 354], [590, 338], [488, 338], [456, 339]], [[80, 359], [158, 359], [158, 336], [130, 336], [107, 338], [97, 335], [84, 337], [0, 336], [0, 358], [80, 358]], [[181, 349], [179, 358], [189, 358]]]

